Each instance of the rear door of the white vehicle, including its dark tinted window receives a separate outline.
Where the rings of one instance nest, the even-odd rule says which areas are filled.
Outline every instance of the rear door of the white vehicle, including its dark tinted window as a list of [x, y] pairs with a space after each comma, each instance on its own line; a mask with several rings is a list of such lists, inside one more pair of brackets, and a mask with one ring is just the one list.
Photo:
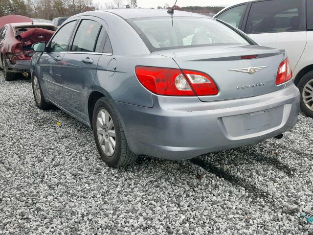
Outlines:
[[254, 1], [243, 29], [262, 46], [285, 49], [293, 71], [307, 43], [306, 0]]

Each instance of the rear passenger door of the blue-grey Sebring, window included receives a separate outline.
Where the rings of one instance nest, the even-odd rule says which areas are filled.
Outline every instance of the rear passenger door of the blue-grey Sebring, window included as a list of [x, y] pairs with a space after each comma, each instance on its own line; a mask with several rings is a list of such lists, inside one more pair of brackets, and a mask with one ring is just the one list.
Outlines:
[[88, 96], [102, 55], [107, 30], [95, 17], [84, 17], [62, 60], [64, 107], [76, 117], [88, 120]]

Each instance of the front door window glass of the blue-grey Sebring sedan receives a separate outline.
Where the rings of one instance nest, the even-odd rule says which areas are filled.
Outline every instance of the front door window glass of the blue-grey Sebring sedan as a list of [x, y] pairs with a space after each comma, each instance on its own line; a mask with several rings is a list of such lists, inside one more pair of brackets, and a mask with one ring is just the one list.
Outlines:
[[69, 38], [75, 27], [76, 21], [72, 21], [64, 25], [52, 38], [50, 44], [50, 52], [64, 52], [67, 51]]

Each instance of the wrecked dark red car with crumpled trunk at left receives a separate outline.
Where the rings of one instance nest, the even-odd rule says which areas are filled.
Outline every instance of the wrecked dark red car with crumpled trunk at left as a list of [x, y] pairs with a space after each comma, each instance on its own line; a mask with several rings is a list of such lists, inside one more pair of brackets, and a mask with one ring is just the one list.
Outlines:
[[0, 18], [0, 67], [7, 81], [16, 79], [17, 73], [28, 77], [30, 59], [35, 53], [34, 43], [48, 43], [57, 27], [50, 23], [33, 23], [24, 16]]

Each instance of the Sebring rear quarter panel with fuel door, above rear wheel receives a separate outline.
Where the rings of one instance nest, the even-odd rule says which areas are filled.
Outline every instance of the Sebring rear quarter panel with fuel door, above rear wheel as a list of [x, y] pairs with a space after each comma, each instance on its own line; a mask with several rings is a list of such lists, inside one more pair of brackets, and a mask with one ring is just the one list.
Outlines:
[[[111, 66], [111, 63], [108, 68], [111, 60], [116, 60], [115, 72], [111, 68], [114, 67]], [[114, 101], [153, 107], [151, 92], [145, 89], [136, 77], [135, 67], [139, 65], [179, 68], [172, 58], [154, 54], [144, 56], [101, 56], [93, 90], [107, 94]], [[112, 73], [113, 75], [110, 76]]]

